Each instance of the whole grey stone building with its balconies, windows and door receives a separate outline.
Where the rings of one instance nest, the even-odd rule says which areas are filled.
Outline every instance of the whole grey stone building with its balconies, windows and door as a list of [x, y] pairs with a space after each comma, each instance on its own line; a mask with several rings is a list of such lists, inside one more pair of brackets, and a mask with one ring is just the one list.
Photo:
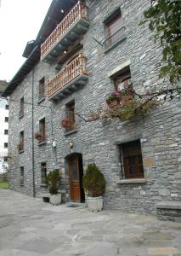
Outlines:
[[[86, 5], [85, 5], [86, 4]], [[41, 196], [59, 169], [64, 201], [84, 201], [89, 163], [105, 174], [105, 208], [156, 212], [181, 198], [181, 111], [177, 100], [144, 118], [104, 123], [82, 117], [106, 106], [115, 86], [144, 92], [158, 79], [161, 49], [148, 25], [148, 0], [53, 1], [27, 58], [4, 91], [9, 105], [11, 189]], [[165, 84], [167, 86], [167, 83]], [[69, 125], [67, 125], [67, 117]]]

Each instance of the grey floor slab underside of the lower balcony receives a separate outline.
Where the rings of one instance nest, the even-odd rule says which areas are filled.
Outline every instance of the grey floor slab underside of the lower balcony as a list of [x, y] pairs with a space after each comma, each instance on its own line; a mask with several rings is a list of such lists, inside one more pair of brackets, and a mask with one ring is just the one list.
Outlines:
[[57, 90], [52, 94], [52, 96], [48, 97], [48, 100], [51, 101], [61, 101], [65, 97], [70, 96], [73, 92], [76, 90], [79, 90], [87, 84], [88, 81], [88, 75], [87, 74], [81, 74], [77, 76], [75, 79], [71, 80], [68, 84], [65, 84], [64, 87], [61, 89]]

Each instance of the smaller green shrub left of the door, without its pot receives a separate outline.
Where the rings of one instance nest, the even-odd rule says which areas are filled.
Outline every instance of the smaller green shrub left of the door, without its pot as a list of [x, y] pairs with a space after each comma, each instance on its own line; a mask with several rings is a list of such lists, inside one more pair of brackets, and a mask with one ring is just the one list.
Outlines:
[[49, 193], [51, 195], [58, 194], [59, 182], [60, 182], [59, 170], [54, 170], [48, 173], [48, 177], [46, 177], [45, 183], [48, 185]]

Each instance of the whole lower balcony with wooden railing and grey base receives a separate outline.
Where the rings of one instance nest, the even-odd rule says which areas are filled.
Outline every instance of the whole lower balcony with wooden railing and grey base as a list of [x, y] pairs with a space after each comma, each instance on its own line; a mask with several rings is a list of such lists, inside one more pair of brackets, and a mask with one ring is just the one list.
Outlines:
[[49, 100], [62, 100], [87, 83], [86, 57], [82, 54], [71, 61], [53, 79], [47, 82]]

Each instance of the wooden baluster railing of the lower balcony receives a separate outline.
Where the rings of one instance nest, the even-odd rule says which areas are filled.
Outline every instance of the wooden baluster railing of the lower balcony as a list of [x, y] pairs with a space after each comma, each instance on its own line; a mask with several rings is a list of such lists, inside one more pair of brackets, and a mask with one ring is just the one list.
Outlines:
[[47, 82], [47, 94], [48, 98], [54, 96], [58, 91], [61, 91], [65, 88], [67, 84], [78, 84], [77, 78], [81, 76], [88, 76], [86, 72], [86, 57], [82, 54], [78, 55], [76, 59], [71, 61], [62, 71], [60, 71], [53, 79], [48, 80]]

